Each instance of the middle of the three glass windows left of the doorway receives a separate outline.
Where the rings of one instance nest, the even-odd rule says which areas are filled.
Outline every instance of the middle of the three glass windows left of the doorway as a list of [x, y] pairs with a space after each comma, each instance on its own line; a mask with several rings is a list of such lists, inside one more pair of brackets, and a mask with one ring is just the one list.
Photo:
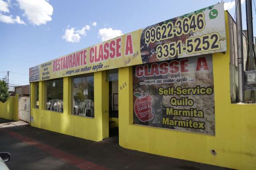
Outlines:
[[63, 78], [45, 82], [46, 110], [63, 113]]

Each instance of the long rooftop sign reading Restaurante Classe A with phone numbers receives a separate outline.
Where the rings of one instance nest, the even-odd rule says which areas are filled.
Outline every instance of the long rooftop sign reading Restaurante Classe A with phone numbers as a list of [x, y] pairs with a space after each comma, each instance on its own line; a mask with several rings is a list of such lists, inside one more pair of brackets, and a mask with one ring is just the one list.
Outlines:
[[226, 49], [224, 3], [219, 3], [32, 67], [30, 82]]

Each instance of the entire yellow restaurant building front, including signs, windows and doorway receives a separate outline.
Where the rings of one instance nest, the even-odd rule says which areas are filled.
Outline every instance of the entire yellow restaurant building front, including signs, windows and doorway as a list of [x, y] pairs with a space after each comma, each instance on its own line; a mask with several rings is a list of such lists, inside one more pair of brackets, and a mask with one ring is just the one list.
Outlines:
[[234, 103], [234, 35], [219, 3], [32, 67], [31, 125], [255, 169], [256, 105]]

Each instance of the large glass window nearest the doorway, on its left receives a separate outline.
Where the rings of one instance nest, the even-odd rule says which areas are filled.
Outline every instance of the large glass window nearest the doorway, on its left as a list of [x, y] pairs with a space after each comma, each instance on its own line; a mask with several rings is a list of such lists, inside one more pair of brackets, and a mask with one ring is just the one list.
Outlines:
[[73, 77], [72, 84], [72, 115], [94, 117], [93, 73]]

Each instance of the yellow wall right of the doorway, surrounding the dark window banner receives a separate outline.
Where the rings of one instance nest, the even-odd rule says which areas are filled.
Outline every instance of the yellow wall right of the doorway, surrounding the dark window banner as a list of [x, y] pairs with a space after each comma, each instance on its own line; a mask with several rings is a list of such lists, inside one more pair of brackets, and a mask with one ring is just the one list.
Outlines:
[[[228, 23], [226, 15], [226, 34]], [[227, 52], [213, 54], [216, 135], [133, 125], [132, 67], [119, 69], [119, 144], [172, 158], [235, 169], [256, 169], [256, 105], [231, 104]], [[215, 150], [217, 155], [210, 153]]]

